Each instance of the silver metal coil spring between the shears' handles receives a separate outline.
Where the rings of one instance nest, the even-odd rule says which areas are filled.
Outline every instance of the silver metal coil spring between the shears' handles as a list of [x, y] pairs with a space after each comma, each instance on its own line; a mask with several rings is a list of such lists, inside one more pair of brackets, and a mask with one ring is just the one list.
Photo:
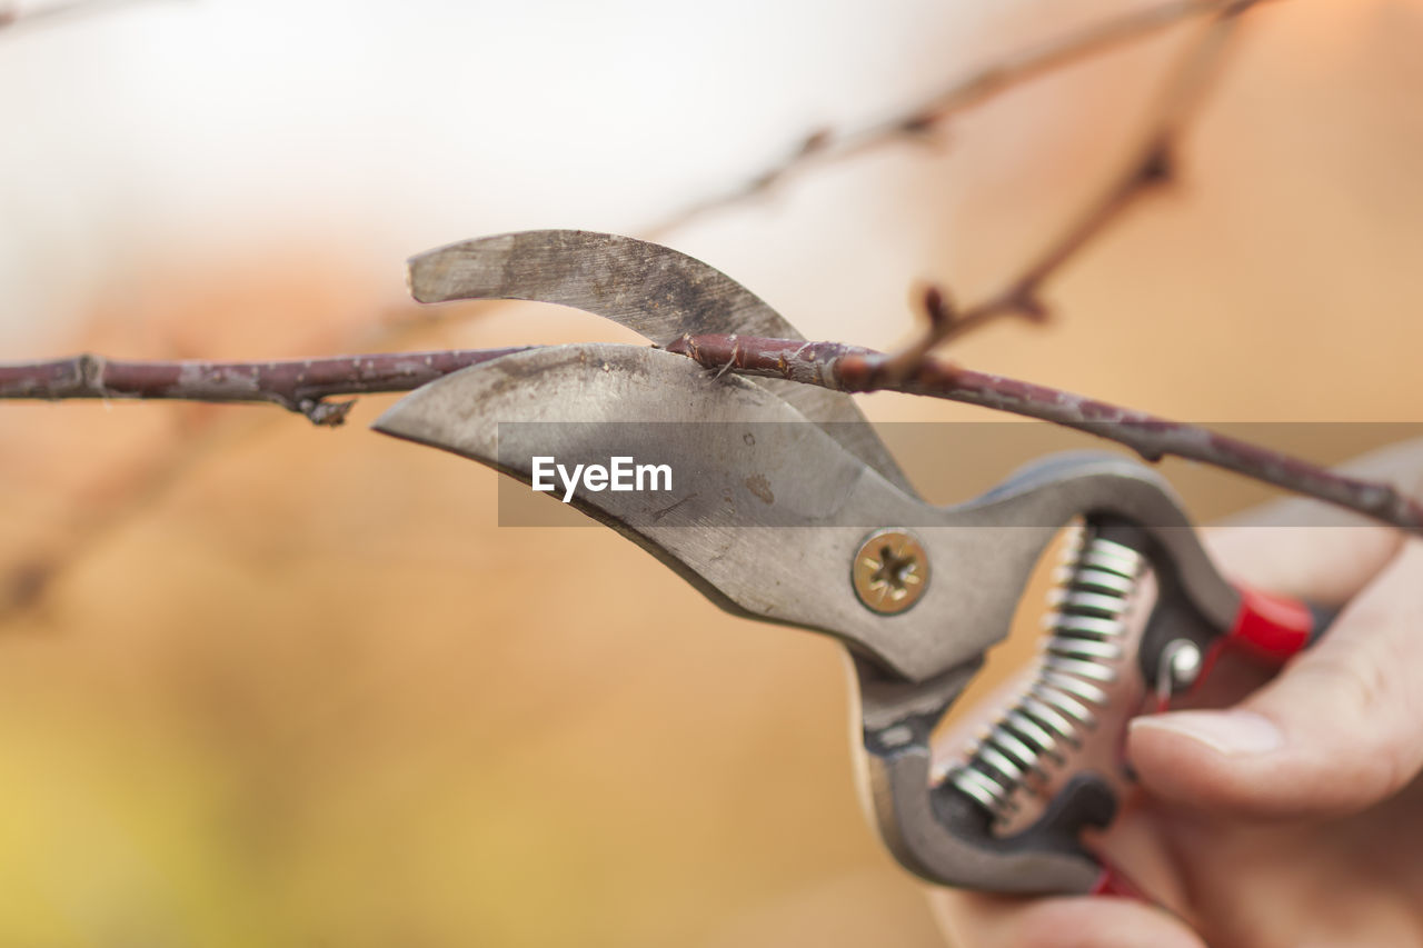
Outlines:
[[1047, 777], [1067, 749], [1097, 723], [1110, 696], [1127, 632], [1126, 613], [1141, 575], [1141, 554], [1079, 530], [1064, 548], [1043, 625], [1049, 636], [1033, 683], [949, 771], [955, 787], [998, 820], [1017, 810], [1015, 796]]

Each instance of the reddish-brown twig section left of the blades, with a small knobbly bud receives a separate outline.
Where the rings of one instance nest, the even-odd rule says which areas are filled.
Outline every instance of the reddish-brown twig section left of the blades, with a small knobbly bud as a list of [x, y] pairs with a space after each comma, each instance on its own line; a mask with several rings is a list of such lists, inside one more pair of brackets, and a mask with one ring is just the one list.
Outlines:
[[0, 364], [0, 399], [178, 399], [277, 404], [339, 426], [351, 401], [334, 396], [408, 391], [512, 349], [380, 353], [280, 362], [122, 362], [83, 354]]

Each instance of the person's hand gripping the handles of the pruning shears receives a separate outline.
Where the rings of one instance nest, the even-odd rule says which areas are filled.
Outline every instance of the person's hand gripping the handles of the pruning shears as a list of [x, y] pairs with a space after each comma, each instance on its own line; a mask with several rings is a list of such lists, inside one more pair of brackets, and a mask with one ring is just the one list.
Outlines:
[[[1407, 483], [1423, 448], [1356, 470]], [[936, 891], [955, 948], [1423, 945], [1423, 541], [1301, 502], [1268, 522], [1207, 535], [1222, 572], [1348, 605], [1278, 676], [1212, 675], [1225, 710], [1131, 722], [1140, 793], [1096, 844], [1170, 911]]]

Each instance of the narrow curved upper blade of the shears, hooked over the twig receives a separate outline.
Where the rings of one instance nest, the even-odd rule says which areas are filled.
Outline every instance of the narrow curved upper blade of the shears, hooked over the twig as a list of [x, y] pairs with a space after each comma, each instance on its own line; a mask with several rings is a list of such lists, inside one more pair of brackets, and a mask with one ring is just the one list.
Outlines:
[[[421, 303], [561, 303], [628, 326], [662, 346], [684, 333], [804, 339], [721, 270], [659, 243], [592, 231], [524, 231], [428, 251], [410, 259], [410, 290]], [[811, 421], [828, 423], [831, 437], [914, 494], [848, 394], [784, 379], [763, 379], [760, 384]]]

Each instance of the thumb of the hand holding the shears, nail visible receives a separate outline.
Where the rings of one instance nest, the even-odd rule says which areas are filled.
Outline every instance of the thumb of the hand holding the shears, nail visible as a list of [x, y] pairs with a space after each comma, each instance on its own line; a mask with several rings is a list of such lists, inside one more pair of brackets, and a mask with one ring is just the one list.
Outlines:
[[1362, 810], [1423, 767], [1423, 541], [1403, 544], [1325, 639], [1229, 710], [1138, 717], [1143, 784], [1241, 816]]

